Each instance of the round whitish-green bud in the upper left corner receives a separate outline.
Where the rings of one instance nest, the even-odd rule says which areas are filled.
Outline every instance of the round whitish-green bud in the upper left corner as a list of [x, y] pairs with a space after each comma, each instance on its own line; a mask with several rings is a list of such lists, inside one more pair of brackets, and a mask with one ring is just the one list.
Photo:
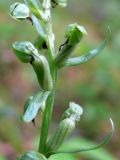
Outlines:
[[22, 3], [14, 3], [10, 6], [10, 14], [14, 19], [24, 20], [29, 17], [29, 8]]

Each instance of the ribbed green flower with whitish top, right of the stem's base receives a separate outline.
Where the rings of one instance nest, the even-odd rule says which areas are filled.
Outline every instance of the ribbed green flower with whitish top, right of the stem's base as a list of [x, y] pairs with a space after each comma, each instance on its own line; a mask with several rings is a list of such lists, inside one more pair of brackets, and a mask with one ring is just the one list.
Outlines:
[[69, 108], [65, 111], [55, 134], [47, 142], [47, 154], [56, 151], [65, 139], [74, 130], [76, 122], [80, 120], [83, 113], [81, 106], [70, 102]]

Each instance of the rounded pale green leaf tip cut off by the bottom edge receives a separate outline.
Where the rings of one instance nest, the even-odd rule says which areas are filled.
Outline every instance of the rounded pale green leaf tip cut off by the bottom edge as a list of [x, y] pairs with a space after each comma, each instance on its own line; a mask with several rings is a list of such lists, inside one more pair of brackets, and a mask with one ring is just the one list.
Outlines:
[[35, 151], [28, 151], [17, 160], [47, 160], [44, 155]]

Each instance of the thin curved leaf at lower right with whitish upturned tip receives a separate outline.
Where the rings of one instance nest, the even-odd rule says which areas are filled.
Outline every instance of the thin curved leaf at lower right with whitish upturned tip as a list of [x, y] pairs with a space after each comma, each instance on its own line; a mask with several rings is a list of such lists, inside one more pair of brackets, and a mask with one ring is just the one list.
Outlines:
[[110, 133], [105, 137], [105, 139], [100, 144], [98, 144], [96, 146], [93, 146], [93, 147], [81, 148], [81, 149], [72, 149], [72, 150], [68, 150], [68, 151], [67, 150], [66, 151], [65, 150], [61, 150], [61, 151], [58, 150], [56, 152], [53, 152], [53, 154], [86, 152], [86, 151], [96, 150], [96, 149], [106, 145], [112, 139], [113, 133], [114, 133], [114, 123], [113, 123], [112, 119], [110, 119], [110, 122], [111, 122], [112, 130], [110, 131]]

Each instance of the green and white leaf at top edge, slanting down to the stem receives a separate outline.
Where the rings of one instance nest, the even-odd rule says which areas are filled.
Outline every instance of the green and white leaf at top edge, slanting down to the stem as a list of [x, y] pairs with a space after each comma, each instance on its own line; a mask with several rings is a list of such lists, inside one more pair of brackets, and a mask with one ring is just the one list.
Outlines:
[[46, 21], [46, 16], [44, 13], [43, 6], [39, 0], [24, 0], [25, 3], [29, 6], [32, 13], [39, 19]]

